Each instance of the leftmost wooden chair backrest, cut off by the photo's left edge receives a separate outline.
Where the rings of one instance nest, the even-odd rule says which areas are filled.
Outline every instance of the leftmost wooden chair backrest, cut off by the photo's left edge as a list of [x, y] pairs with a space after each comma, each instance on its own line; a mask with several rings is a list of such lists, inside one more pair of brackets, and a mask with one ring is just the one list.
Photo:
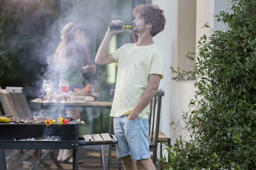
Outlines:
[[10, 96], [7, 93], [7, 90], [1, 89], [1, 87], [0, 87], [0, 101], [1, 101], [2, 107], [5, 111], [5, 115], [12, 115], [14, 118], [17, 118], [17, 114], [14, 109], [14, 105], [12, 104], [12, 102], [10, 100]]

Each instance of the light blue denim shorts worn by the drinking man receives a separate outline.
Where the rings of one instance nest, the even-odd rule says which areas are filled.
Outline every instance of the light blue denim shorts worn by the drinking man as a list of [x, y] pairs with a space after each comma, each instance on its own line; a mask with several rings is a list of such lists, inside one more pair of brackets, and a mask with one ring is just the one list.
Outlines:
[[127, 155], [131, 155], [132, 160], [150, 158], [148, 119], [137, 117], [136, 120], [127, 120], [127, 116], [113, 118], [114, 135], [118, 139], [117, 158]]

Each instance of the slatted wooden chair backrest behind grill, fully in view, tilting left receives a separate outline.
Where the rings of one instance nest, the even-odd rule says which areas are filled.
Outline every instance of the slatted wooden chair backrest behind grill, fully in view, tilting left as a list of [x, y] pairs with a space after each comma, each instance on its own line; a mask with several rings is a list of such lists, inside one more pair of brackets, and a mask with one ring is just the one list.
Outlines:
[[14, 105], [17, 116], [20, 118], [33, 118], [27, 98], [22, 87], [6, 87], [10, 100]]

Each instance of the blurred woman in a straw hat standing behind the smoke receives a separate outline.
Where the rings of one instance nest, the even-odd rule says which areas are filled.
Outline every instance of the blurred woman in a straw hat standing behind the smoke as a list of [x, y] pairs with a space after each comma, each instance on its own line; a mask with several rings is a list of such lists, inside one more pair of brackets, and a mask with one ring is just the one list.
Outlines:
[[[95, 74], [96, 66], [90, 65], [90, 56], [85, 43], [84, 32], [81, 25], [68, 23], [60, 31], [61, 42], [54, 55], [55, 68], [59, 72], [60, 78], [69, 81], [69, 90], [75, 88], [82, 89], [88, 83], [83, 77], [85, 73]], [[65, 109], [67, 117], [80, 119], [78, 107], [68, 107]], [[60, 149], [57, 160], [62, 163], [72, 163], [72, 151]]]

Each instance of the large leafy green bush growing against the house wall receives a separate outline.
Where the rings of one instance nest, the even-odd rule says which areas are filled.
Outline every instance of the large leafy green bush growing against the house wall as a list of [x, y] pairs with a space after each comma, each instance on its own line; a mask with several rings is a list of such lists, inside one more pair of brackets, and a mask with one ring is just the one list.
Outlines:
[[215, 16], [227, 29], [203, 35], [198, 55], [188, 52], [195, 69], [171, 67], [178, 77], [196, 77], [198, 91], [183, 115], [191, 140], [180, 136], [166, 148], [169, 169], [256, 169], [256, 1], [229, 5]]

